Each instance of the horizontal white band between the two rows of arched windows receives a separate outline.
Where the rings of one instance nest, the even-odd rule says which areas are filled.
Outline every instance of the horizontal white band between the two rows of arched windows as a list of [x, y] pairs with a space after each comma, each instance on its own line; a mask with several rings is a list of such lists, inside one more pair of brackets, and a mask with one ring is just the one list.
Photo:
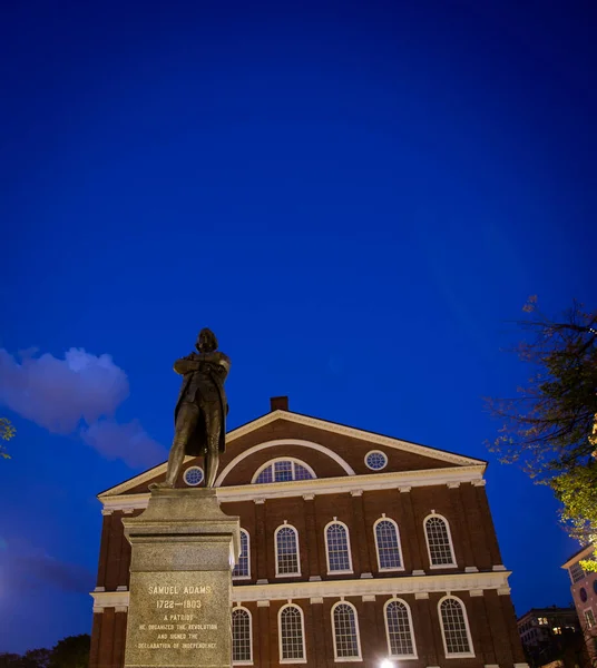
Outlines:
[[[511, 571], [453, 573], [449, 576], [402, 576], [365, 580], [326, 580], [324, 582], [285, 582], [275, 584], [238, 584], [232, 588], [233, 602], [286, 601], [288, 599], [340, 598], [350, 596], [400, 596], [493, 589], [508, 589]], [[509, 589], [508, 589], [509, 591]], [[128, 605], [128, 591], [92, 591], [94, 610]]]

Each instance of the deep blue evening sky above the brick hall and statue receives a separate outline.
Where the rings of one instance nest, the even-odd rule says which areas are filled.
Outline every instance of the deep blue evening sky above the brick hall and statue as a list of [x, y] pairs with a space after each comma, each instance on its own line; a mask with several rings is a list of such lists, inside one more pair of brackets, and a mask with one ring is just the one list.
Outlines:
[[[6, 2], [4, 362], [39, 348], [43, 382], [42, 354], [111, 355], [114, 429], [165, 448], [172, 363], [208, 325], [231, 426], [288, 394], [489, 459], [517, 611], [567, 605], [575, 544], [548, 490], [487, 453], [481, 397], [528, 375], [500, 352], [528, 295], [595, 307], [591, 4]], [[89, 631], [95, 494], [143, 469], [50, 433], [52, 392], [31, 420], [0, 406], [0, 651]]]

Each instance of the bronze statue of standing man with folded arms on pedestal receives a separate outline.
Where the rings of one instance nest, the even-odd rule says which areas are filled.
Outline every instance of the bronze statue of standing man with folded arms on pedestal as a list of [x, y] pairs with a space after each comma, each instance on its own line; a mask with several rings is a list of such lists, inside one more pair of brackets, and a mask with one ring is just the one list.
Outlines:
[[228, 403], [224, 381], [231, 361], [217, 351], [217, 338], [207, 328], [199, 332], [195, 344], [198, 353], [177, 360], [174, 371], [183, 376], [183, 385], [174, 410], [175, 434], [164, 482], [155, 488], [173, 488], [185, 454], [205, 458], [205, 487], [213, 488], [219, 453], [226, 449]]

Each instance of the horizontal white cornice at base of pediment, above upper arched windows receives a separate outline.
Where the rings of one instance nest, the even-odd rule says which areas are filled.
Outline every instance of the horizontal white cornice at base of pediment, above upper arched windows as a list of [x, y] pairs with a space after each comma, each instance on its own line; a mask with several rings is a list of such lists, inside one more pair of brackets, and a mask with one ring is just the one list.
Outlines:
[[[305, 494], [341, 494], [360, 491], [392, 490], [446, 485], [449, 482], [473, 483], [482, 479], [485, 466], [454, 466], [447, 469], [423, 469], [421, 471], [401, 471], [392, 473], [372, 473], [366, 475], [342, 475], [340, 478], [316, 478], [292, 482], [270, 482], [264, 484], [243, 484], [217, 488], [221, 502], [253, 501], [262, 499], [284, 499]], [[128, 510], [147, 508], [149, 492], [139, 494], [104, 495], [99, 500], [105, 510]]]

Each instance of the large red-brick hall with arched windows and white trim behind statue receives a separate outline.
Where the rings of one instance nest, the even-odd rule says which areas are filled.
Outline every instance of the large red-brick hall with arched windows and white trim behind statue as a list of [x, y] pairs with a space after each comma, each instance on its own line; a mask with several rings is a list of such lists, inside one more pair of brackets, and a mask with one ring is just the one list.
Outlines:
[[[235, 665], [527, 666], [485, 490], [486, 462], [288, 411], [227, 434], [216, 481], [241, 517]], [[200, 484], [187, 458], [179, 487]], [[124, 515], [162, 464], [99, 494], [90, 668], [119, 668], [130, 548]]]

